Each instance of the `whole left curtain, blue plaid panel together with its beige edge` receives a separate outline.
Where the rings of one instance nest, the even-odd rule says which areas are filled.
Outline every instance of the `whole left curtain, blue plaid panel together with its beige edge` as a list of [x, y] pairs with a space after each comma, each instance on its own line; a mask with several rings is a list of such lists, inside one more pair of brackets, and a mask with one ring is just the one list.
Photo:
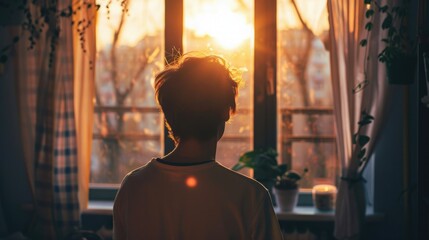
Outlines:
[[[87, 1], [35, 4], [28, 3], [33, 19], [42, 19], [46, 4], [58, 14], [73, 4], [80, 9], [73, 20], [92, 20], [96, 12]], [[62, 239], [77, 229], [88, 199], [95, 23], [72, 24], [71, 16], [51, 15], [31, 50], [27, 31], [18, 33], [22, 40], [15, 46], [22, 148], [34, 198], [29, 234], [35, 239]], [[84, 34], [77, 33], [83, 27]]]

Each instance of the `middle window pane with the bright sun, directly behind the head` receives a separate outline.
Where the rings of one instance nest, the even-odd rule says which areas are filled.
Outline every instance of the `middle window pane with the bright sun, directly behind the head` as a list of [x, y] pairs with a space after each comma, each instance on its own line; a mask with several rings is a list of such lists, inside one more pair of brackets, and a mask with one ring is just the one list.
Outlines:
[[217, 160], [232, 167], [252, 148], [253, 0], [185, 0], [184, 51], [224, 56], [243, 70], [238, 112], [219, 142]]

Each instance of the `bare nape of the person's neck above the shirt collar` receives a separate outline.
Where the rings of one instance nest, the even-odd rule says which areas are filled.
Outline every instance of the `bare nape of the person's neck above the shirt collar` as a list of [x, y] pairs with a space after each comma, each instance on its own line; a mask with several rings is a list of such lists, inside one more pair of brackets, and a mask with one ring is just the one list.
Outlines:
[[186, 139], [180, 141], [176, 148], [162, 158], [163, 161], [173, 163], [199, 163], [214, 161], [216, 157], [216, 139], [200, 141]]

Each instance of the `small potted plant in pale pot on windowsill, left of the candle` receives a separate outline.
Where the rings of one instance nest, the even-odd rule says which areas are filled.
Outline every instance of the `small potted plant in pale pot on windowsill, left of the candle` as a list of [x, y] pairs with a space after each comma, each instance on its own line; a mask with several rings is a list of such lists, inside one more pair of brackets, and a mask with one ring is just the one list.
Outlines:
[[301, 180], [302, 176], [307, 172], [307, 168], [304, 169], [302, 174], [289, 170], [277, 178], [273, 192], [276, 198], [276, 203], [281, 211], [289, 212], [294, 209], [298, 202], [298, 181]]

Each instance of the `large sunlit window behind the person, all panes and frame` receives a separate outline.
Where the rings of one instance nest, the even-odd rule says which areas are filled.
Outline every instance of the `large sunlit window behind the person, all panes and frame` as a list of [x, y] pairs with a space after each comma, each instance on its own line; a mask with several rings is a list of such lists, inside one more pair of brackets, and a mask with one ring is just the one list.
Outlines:
[[335, 183], [326, 1], [130, 0], [128, 11], [121, 2], [99, 10], [92, 187], [119, 184], [172, 149], [154, 73], [164, 56], [195, 50], [223, 55], [243, 71], [238, 112], [218, 146], [222, 164], [231, 167], [252, 148], [276, 147], [279, 161], [310, 169], [303, 187]]

